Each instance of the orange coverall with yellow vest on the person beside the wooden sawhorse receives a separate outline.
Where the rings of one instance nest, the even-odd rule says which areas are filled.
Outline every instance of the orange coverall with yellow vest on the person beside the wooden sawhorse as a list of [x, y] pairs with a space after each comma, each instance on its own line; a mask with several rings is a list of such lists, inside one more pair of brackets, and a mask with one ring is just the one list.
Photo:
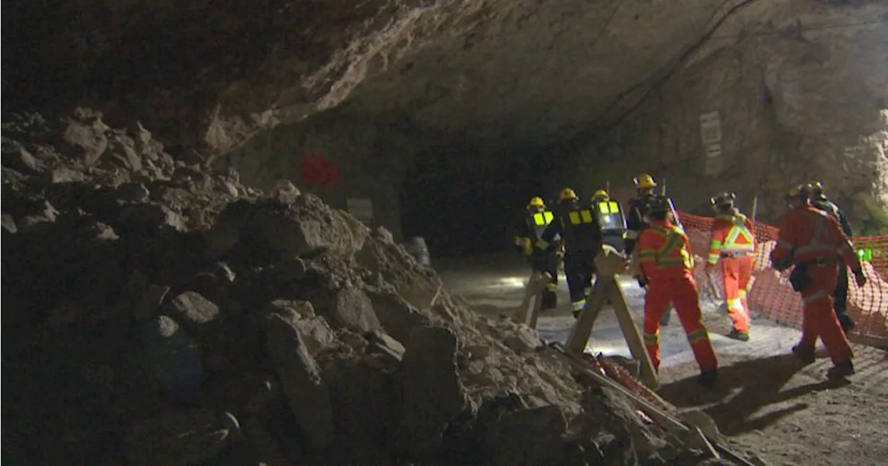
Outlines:
[[638, 237], [638, 264], [648, 280], [645, 294], [645, 346], [660, 369], [660, 317], [675, 305], [702, 372], [718, 368], [710, 336], [701, 322], [693, 255], [685, 232], [668, 221], [653, 221]]

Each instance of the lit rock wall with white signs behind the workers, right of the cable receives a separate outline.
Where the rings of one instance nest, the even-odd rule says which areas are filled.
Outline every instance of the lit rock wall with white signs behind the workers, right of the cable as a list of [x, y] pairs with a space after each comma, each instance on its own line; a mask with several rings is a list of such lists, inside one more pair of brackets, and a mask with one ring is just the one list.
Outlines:
[[[564, 183], [630, 190], [632, 176], [647, 171], [683, 209], [708, 214], [710, 196], [733, 190], [748, 211], [758, 196], [759, 218], [775, 221], [792, 183], [821, 180], [860, 231], [873, 230], [872, 211], [888, 201], [888, 7], [781, 4], [725, 23], [628, 118], [585, 145], [583, 173]], [[713, 113], [720, 137], [704, 128]]]

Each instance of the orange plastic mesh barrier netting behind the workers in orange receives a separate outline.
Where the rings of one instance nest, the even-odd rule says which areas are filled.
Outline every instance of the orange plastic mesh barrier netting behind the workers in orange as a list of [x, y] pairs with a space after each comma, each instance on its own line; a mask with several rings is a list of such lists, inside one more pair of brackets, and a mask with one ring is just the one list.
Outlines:
[[[678, 213], [691, 240], [695, 256], [694, 276], [702, 289], [702, 295], [710, 299], [721, 299], [721, 278], [713, 276], [715, 292], [712, 297], [708, 285], [710, 280], [703, 273], [705, 256], [709, 252], [711, 217]], [[777, 272], [771, 268], [768, 259], [777, 239], [777, 229], [765, 223], [756, 222], [756, 265], [752, 283], [749, 285], [749, 308], [766, 319], [800, 329], [802, 326], [802, 299], [789, 285], [789, 270]], [[857, 322], [852, 335], [873, 338], [888, 343], [888, 236], [854, 237], [854, 249], [863, 263], [868, 283], [859, 288], [854, 277], [848, 277], [848, 315]], [[790, 269], [791, 270], [791, 269]]]

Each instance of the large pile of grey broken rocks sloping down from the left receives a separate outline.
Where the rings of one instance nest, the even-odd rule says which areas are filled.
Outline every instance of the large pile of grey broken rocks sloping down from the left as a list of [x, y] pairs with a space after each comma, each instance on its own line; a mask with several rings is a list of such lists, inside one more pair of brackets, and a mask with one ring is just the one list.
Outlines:
[[79, 110], [0, 125], [2, 464], [699, 464], [385, 229]]

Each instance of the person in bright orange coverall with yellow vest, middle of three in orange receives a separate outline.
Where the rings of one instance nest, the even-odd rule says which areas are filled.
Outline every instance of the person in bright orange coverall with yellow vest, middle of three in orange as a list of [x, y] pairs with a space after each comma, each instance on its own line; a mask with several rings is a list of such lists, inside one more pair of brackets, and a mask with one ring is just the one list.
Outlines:
[[749, 304], [746, 300], [746, 288], [752, 278], [756, 236], [753, 233], [755, 228], [752, 226], [752, 221], [734, 206], [736, 198], [733, 192], [724, 192], [710, 198], [716, 218], [712, 222], [706, 272], [709, 273], [721, 260], [725, 304], [727, 304], [727, 314], [733, 322], [733, 328], [727, 337], [749, 341]]

